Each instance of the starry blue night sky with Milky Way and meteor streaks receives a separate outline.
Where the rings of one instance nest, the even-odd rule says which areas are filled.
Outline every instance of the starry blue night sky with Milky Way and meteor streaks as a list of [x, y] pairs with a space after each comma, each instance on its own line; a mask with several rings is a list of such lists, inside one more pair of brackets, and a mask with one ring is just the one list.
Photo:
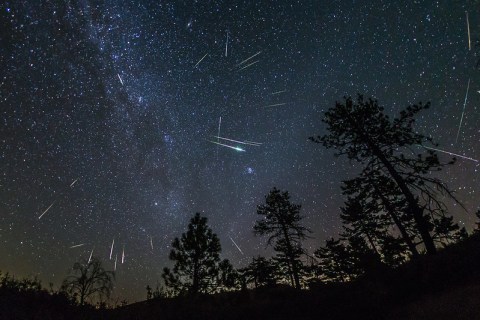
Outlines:
[[[325, 133], [323, 111], [357, 92], [391, 115], [431, 101], [416, 129], [472, 158], [439, 175], [465, 204], [468, 212], [452, 205], [452, 213], [471, 231], [480, 204], [478, 9], [477, 1], [2, 1], [0, 270], [57, 286], [93, 249], [110, 270], [117, 256], [115, 295], [143, 300], [195, 212], [234, 266], [270, 255], [252, 227], [274, 186], [303, 205], [312, 252], [341, 230], [341, 180], [358, 166], [307, 138]], [[215, 138], [220, 117], [220, 136], [261, 145]]]

